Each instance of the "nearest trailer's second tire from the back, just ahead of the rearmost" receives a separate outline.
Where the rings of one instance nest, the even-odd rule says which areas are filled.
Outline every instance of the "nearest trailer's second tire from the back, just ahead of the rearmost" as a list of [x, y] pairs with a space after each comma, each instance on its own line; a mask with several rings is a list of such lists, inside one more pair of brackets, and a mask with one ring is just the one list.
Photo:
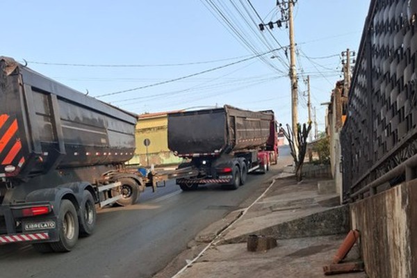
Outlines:
[[79, 211], [79, 224], [80, 224], [80, 235], [90, 236], [94, 231], [97, 213], [95, 210], [94, 199], [88, 190], [84, 190], [83, 199], [80, 204]]

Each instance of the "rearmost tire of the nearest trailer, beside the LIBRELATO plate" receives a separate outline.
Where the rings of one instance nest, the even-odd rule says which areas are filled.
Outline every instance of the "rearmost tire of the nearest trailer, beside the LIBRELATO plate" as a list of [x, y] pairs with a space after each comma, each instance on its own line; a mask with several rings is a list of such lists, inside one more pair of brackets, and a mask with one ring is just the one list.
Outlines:
[[50, 243], [55, 252], [69, 252], [76, 245], [79, 237], [79, 222], [74, 204], [63, 199], [58, 214], [59, 241]]

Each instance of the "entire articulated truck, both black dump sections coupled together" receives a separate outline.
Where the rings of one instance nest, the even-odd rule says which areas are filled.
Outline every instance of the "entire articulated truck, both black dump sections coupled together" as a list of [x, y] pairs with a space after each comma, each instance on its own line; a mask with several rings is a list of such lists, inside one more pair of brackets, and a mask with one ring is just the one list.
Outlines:
[[92, 234], [97, 206], [134, 204], [145, 186], [167, 179], [183, 190], [213, 182], [236, 189], [277, 161], [273, 113], [224, 106], [171, 114], [168, 145], [190, 162], [144, 175], [124, 165], [136, 122], [0, 56], [0, 244], [68, 252]]

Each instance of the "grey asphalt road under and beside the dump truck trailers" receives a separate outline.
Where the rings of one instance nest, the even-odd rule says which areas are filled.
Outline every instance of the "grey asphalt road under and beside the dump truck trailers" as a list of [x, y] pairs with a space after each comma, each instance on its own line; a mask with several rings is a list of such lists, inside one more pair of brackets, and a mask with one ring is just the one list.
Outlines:
[[[276, 171], [277, 166], [271, 172]], [[138, 204], [101, 209], [95, 234], [80, 238], [72, 252], [39, 254], [27, 244], [0, 246], [0, 277], [152, 277], [199, 231], [260, 193], [271, 172], [249, 175], [238, 190], [209, 185], [182, 192], [172, 182], [157, 193], [147, 188]]]

